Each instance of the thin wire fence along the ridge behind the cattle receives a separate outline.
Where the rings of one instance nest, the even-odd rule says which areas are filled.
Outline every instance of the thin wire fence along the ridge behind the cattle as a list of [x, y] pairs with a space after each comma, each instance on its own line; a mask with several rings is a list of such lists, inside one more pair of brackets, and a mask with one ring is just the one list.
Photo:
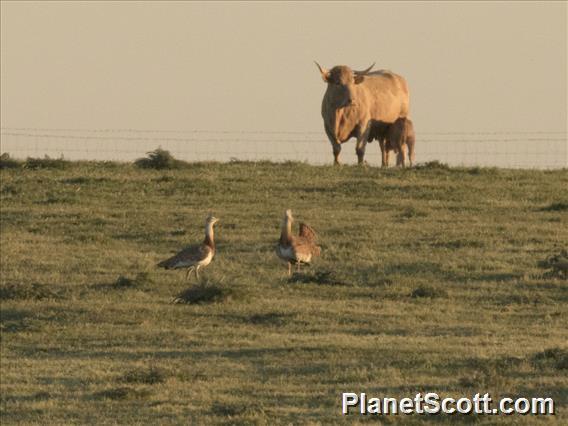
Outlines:
[[[354, 140], [354, 139], [353, 139]], [[14, 158], [133, 161], [158, 147], [186, 161], [305, 161], [330, 164], [323, 130], [231, 131], [69, 129], [2, 127], [2, 153]], [[391, 155], [391, 157], [394, 157]], [[380, 164], [379, 144], [367, 145], [366, 160]], [[343, 144], [341, 160], [357, 161], [355, 143]], [[568, 167], [567, 132], [424, 132], [416, 135], [416, 161], [452, 166], [554, 169]], [[391, 163], [394, 162], [391, 159]]]

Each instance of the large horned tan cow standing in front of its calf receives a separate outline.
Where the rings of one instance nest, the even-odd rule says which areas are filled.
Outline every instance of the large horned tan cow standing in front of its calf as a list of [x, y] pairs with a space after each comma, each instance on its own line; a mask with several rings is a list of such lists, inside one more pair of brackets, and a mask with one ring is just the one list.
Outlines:
[[321, 115], [335, 164], [339, 164], [341, 144], [352, 137], [357, 138], [355, 151], [361, 164], [372, 128], [386, 135], [390, 124], [408, 115], [406, 80], [390, 71], [369, 72], [374, 64], [365, 71], [353, 71], [345, 65], [327, 70], [316, 65], [327, 83]]

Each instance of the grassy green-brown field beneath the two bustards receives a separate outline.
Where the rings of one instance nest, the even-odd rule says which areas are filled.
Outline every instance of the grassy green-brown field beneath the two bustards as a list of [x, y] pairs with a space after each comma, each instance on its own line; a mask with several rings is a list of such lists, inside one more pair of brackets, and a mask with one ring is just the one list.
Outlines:
[[[568, 403], [568, 172], [198, 163], [1, 176], [3, 424], [333, 424], [342, 392]], [[284, 210], [322, 256], [292, 279]], [[221, 219], [194, 282], [156, 268]], [[296, 224], [297, 226], [297, 224]], [[296, 228], [297, 229], [297, 228]], [[530, 416], [383, 423], [534, 424]]]

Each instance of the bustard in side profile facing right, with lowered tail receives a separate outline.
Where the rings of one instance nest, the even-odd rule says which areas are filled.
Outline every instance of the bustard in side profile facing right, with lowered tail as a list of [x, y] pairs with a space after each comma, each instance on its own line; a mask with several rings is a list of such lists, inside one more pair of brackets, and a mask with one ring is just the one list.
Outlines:
[[211, 263], [215, 256], [215, 238], [213, 226], [219, 221], [215, 216], [209, 215], [205, 220], [205, 240], [203, 243], [189, 246], [175, 256], [170, 257], [158, 266], [165, 269], [187, 268], [186, 279], [195, 271], [195, 277], [199, 279], [199, 268], [204, 268]]

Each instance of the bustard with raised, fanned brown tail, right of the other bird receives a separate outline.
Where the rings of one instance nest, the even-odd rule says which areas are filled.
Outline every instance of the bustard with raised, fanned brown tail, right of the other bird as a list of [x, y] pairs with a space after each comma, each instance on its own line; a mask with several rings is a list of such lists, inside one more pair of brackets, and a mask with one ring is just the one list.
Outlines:
[[310, 264], [313, 256], [319, 256], [321, 249], [316, 245], [316, 233], [305, 223], [300, 223], [298, 236], [292, 235], [292, 210], [286, 210], [282, 221], [282, 232], [276, 247], [279, 258], [288, 263], [288, 276], [292, 275], [292, 264], [300, 270], [302, 263]]

